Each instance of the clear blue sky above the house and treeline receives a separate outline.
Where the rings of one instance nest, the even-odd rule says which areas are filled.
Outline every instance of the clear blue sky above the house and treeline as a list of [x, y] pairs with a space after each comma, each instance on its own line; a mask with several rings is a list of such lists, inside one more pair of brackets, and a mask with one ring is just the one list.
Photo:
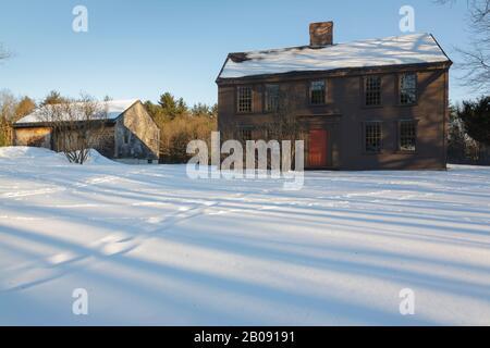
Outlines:
[[[72, 29], [75, 5], [88, 33]], [[334, 41], [401, 35], [399, 10], [415, 9], [416, 32], [432, 33], [456, 63], [466, 1], [431, 0], [0, 0], [0, 89], [37, 100], [51, 89], [76, 97], [217, 101], [215, 79], [228, 52], [307, 45], [308, 24], [332, 20]], [[452, 70], [451, 99], [471, 97]]]

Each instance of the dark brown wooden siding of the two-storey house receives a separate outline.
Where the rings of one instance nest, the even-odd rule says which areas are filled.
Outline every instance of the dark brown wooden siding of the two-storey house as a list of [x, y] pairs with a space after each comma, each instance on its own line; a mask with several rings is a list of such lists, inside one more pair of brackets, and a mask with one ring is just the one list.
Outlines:
[[[414, 105], [399, 103], [399, 76], [405, 72], [417, 74], [417, 102]], [[366, 107], [364, 78], [381, 76], [381, 105]], [[282, 90], [294, 96], [294, 112], [305, 129], [328, 129], [328, 167], [342, 170], [401, 170], [433, 169], [446, 166], [445, 132], [448, 119], [449, 65], [397, 66], [367, 69], [343, 73], [309, 73], [287, 76], [274, 75], [264, 78], [218, 80], [218, 126], [225, 129], [237, 126], [260, 126], [270, 121], [262, 111], [264, 86], [278, 83]], [[326, 79], [326, 104], [310, 105], [309, 82]], [[236, 86], [254, 88], [254, 107], [250, 114], [236, 112]], [[399, 151], [399, 122], [417, 121], [417, 145], [414, 153]], [[370, 154], [364, 150], [363, 125], [379, 121], [382, 125], [382, 150]], [[308, 151], [306, 137], [306, 153]], [[305, 159], [308, 157], [305, 156]], [[308, 163], [306, 163], [308, 166]]]

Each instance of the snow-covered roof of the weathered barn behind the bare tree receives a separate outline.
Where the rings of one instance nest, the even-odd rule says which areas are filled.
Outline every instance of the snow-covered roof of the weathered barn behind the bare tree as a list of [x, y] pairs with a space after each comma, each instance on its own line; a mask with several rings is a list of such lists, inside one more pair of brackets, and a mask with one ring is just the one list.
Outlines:
[[[103, 117], [105, 120], [115, 120], [137, 101], [138, 99], [102, 101], [99, 103], [99, 105], [97, 105], [97, 109], [100, 109], [101, 117]], [[75, 102], [72, 103], [72, 105], [74, 107], [73, 112], [75, 114], [75, 117], [76, 112], [79, 112], [79, 120], [84, 120], [84, 114], [81, 111], [82, 108], [76, 108], [79, 107], [81, 103]], [[49, 122], [49, 120], [47, 120], [47, 115], [49, 115], [49, 112], [47, 112], [46, 108], [56, 108], [56, 105], [38, 108], [33, 113], [15, 122], [15, 124]], [[61, 117], [63, 117], [63, 115]], [[66, 114], [64, 117], [66, 120], [70, 120], [72, 115]]]

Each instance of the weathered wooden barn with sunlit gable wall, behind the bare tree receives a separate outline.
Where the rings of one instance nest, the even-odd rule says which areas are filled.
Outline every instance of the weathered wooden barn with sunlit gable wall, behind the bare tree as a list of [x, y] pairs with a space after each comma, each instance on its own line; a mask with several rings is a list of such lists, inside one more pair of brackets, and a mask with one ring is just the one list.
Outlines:
[[[54, 124], [46, 117], [44, 108], [14, 124], [14, 145], [58, 150]], [[103, 111], [105, 127], [97, 151], [121, 162], [158, 162], [160, 129], [139, 100], [105, 101], [99, 109]]]

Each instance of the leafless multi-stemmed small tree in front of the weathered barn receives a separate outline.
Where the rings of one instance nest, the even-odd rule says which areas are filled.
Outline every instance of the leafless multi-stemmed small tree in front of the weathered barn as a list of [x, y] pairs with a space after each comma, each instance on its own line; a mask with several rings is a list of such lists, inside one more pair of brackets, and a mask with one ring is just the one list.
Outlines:
[[52, 128], [54, 149], [73, 163], [84, 164], [89, 150], [97, 148], [106, 134], [107, 108], [88, 96], [45, 105], [39, 113]]

